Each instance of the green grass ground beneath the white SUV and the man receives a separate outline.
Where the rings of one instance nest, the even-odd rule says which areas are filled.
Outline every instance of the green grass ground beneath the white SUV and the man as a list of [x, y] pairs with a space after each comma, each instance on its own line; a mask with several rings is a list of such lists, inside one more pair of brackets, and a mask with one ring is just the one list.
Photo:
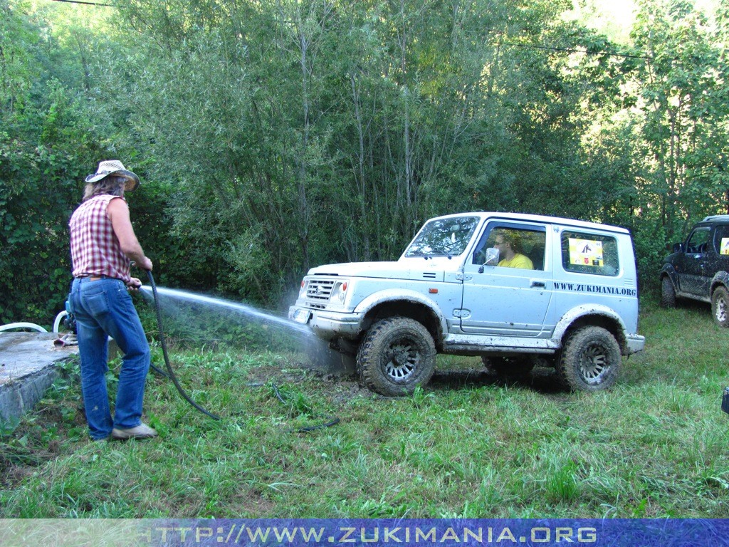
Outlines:
[[706, 306], [652, 302], [640, 330], [647, 349], [594, 395], [439, 357], [425, 389], [386, 398], [305, 371], [296, 352], [171, 349], [182, 384], [222, 419], [150, 375], [160, 438], [127, 443], [87, 441], [69, 366], [1, 432], [0, 516], [729, 518], [729, 332]]

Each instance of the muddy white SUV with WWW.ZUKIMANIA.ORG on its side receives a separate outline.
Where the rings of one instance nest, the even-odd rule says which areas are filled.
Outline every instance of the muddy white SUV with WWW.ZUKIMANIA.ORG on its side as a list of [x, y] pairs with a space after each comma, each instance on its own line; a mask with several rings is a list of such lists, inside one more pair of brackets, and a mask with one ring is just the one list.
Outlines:
[[644, 346], [628, 230], [531, 214], [437, 217], [397, 262], [311, 268], [289, 318], [383, 395], [426, 384], [437, 353], [480, 355], [504, 376], [553, 366], [597, 391]]

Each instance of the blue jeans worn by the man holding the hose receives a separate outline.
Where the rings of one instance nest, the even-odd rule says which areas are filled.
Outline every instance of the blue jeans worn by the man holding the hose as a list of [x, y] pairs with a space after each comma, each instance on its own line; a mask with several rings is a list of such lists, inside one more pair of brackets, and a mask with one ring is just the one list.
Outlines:
[[[86, 421], [93, 439], [108, 437], [112, 428], [141, 424], [144, 381], [149, 371], [149, 344], [124, 282], [104, 277], [96, 281], [77, 278], [71, 284], [71, 313], [81, 356], [81, 391]], [[122, 350], [114, 420], [106, 391], [107, 339]]]

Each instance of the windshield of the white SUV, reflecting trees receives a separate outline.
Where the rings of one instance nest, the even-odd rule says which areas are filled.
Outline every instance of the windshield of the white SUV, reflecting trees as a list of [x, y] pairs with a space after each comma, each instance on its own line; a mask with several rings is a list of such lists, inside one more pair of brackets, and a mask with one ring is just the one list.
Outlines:
[[450, 217], [431, 220], [415, 238], [406, 257], [456, 256], [466, 250], [478, 217]]

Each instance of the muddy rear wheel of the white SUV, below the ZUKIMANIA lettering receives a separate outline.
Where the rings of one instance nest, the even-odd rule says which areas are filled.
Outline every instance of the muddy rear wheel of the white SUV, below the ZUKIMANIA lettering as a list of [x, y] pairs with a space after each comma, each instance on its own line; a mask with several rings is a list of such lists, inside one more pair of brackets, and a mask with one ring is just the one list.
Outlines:
[[580, 327], [569, 335], [557, 360], [557, 376], [573, 391], [596, 392], [615, 384], [623, 358], [615, 337], [602, 327]]

